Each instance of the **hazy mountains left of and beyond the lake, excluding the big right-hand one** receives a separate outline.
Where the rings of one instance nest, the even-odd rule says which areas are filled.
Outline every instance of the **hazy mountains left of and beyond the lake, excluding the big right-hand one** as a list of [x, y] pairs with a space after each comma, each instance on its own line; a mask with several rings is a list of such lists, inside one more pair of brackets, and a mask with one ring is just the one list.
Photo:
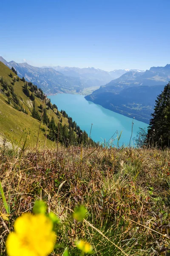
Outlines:
[[[127, 70], [113, 70], [107, 72], [94, 67], [34, 67], [28, 63], [6, 61], [0, 57], [8, 67], [14, 67], [19, 76], [24, 76], [27, 81], [40, 87], [45, 93], [81, 93], [84, 88], [100, 87], [113, 79], [118, 78]], [[137, 70], [136, 70], [137, 71]], [[139, 73], [142, 70], [139, 70]]]

